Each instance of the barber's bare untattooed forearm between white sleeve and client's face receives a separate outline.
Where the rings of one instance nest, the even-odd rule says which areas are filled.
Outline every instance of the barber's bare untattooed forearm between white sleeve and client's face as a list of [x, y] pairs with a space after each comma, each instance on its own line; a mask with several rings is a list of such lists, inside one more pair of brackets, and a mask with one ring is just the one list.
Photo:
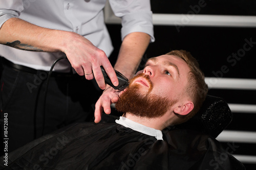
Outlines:
[[150, 43], [150, 38], [150, 35], [142, 32], [128, 34], [123, 39], [114, 68], [128, 79], [131, 79]]

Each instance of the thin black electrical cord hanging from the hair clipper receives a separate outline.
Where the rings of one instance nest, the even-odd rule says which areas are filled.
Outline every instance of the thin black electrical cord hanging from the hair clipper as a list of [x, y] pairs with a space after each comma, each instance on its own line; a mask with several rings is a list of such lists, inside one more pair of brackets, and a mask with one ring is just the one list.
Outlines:
[[55, 64], [59, 61], [59, 60], [62, 60], [62, 59], [67, 59], [67, 56], [63, 56], [63, 57], [60, 57], [58, 58], [57, 60], [55, 60], [51, 66], [51, 69], [49, 71], [49, 74], [48, 74], [48, 77], [47, 77], [47, 80], [46, 80], [46, 89], [45, 89], [45, 95], [44, 95], [44, 104], [43, 104], [43, 112], [42, 112], [42, 134], [41, 135], [44, 135], [44, 130], [45, 130], [45, 119], [46, 119], [46, 97], [47, 97], [47, 90], [48, 90], [48, 86], [49, 86], [49, 81], [50, 81], [50, 77], [51, 77], [51, 74], [52, 74], [52, 70], [53, 70], [53, 67], [55, 66]]

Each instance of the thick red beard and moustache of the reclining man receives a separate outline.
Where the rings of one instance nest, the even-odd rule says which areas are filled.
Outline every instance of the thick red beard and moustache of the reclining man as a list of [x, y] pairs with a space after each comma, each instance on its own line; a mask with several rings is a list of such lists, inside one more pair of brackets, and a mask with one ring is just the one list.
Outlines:
[[[150, 84], [146, 94], [139, 92], [140, 85], [132, 84], [138, 78], [145, 78]], [[126, 91], [120, 96], [116, 103], [116, 109], [119, 112], [129, 112], [141, 117], [160, 117], [164, 115], [168, 109], [173, 106], [177, 100], [169, 100], [156, 94], [150, 94], [153, 89], [153, 84], [148, 75], [139, 74], [131, 80], [131, 83]]]

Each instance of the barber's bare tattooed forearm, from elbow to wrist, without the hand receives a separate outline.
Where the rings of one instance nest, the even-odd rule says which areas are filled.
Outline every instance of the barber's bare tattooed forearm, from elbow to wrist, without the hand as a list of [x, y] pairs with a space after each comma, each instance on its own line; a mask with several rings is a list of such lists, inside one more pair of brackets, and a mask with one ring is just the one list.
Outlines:
[[0, 43], [20, 50], [63, 52], [65, 41], [62, 40], [67, 40], [72, 34], [64, 32], [38, 27], [19, 18], [10, 18], [0, 29]]

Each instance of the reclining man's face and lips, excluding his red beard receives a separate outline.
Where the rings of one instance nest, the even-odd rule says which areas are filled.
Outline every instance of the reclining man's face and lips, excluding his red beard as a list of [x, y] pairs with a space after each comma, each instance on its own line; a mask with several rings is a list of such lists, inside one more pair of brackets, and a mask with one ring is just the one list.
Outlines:
[[[154, 88], [151, 94], [157, 94], [168, 99], [179, 99], [187, 84], [187, 76], [190, 71], [184, 60], [172, 55], [162, 55], [149, 59], [143, 74], [150, 77]], [[135, 79], [131, 84], [139, 84], [141, 93], [147, 92], [145, 79]]]

